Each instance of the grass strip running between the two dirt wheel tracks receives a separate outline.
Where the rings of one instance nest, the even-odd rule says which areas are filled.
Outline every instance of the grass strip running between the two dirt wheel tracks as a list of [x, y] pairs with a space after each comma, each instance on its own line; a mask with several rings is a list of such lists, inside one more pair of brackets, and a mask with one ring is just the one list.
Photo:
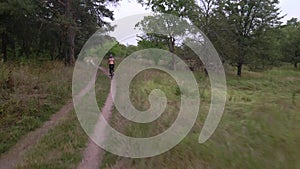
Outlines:
[[[96, 82], [97, 101], [103, 107], [109, 92], [110, 80], [100, 74]], [[76, 168], [82, 159], [88, 136], [81, 128], [75, 112], [60, 122], [25, 156], [17, 168]]]

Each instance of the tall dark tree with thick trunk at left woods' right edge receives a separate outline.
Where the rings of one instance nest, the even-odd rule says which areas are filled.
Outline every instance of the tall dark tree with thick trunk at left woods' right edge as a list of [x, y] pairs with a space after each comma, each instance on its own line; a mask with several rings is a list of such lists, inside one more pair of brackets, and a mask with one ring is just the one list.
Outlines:
[[[118, 0], [48, 0], [45, 1], [47, 8], [55, 16], [54, 21], [65, 30], [66, 65], [73, 66], [75, 63], [75, 40], [76, 35], [89, 27], [95, 29], [109, 25], [103, 20], [104, 17], [113, 18], [113, 12], [106, 8], [107, 3], [116, 3]], [[91, 32], [88, 32], [90, 35]]]

